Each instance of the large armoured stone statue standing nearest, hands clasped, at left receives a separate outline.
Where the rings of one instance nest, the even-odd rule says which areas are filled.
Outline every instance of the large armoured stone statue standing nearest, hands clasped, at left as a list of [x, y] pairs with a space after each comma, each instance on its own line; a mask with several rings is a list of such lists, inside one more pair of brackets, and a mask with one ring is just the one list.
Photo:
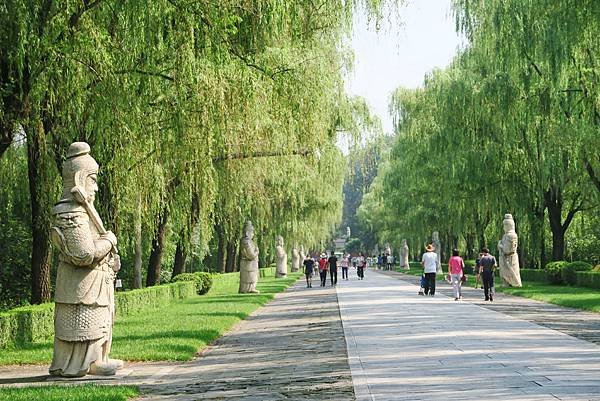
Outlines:
[[115, 316], [114, 281], [121, 263], [117, 238], [94, 207], [98, 164], [90, 146], [74, 142], [63, 163], [63, 194], [52, 208], [52, 243], [58, 249], [54, 354], [50, 374], [114, 375], [123, 361], [110, 359]]

